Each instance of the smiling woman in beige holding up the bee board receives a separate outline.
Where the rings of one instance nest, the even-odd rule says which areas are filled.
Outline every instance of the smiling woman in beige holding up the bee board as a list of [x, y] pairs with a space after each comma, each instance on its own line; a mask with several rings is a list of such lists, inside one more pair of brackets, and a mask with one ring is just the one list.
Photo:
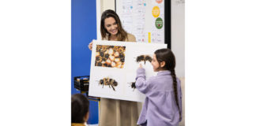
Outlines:
[[[111, 9], [102, 13], [100, 33], [103, 40], [135, 42], [134, 35], [123, 28], [119, 16]], [[92, 43], [88, 48], [92, 50]], [[141, 111], [141, 103], [100, 98], [99, 126], [135, 126]]]

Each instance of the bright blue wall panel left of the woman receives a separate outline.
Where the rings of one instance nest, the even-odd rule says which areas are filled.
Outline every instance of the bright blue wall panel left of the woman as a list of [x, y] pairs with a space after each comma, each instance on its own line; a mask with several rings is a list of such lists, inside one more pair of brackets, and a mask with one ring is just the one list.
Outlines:
[[[91, 50], [88, 43], [96, 39], [96, 0], [71, 0], [71, 94], [74, 76], [89, 76]], [[90, 101], [88, 124], [98, 123], [98, 103]]]

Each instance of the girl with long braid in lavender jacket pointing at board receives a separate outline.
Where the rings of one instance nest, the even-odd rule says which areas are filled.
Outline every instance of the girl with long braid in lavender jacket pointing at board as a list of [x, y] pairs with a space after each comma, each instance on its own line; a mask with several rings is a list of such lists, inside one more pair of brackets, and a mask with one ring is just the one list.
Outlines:
[[169, 49], [156, 50], [152, 67], [157, 76], [145, 80], [145, 69], [137, 69], [136, 88], [146, 95], [137, 124], [178, 126], [182, 120], [182, 91], [175, 76], [175, 56]]

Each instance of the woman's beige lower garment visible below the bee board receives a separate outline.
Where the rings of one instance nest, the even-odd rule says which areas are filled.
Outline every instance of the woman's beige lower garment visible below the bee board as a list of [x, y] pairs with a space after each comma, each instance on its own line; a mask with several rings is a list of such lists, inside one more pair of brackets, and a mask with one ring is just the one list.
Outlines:
[[99, 126], [136, 126], [141, 102], [100, 98]]

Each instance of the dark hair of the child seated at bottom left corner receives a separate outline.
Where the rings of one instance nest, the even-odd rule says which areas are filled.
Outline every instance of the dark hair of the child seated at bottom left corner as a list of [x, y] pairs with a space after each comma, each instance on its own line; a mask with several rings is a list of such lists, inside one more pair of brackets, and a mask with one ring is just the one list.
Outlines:
[[88, 113], [88, 98], [82, 94], [71, 96], [71, 123], [85, 123], [85, 116]]

